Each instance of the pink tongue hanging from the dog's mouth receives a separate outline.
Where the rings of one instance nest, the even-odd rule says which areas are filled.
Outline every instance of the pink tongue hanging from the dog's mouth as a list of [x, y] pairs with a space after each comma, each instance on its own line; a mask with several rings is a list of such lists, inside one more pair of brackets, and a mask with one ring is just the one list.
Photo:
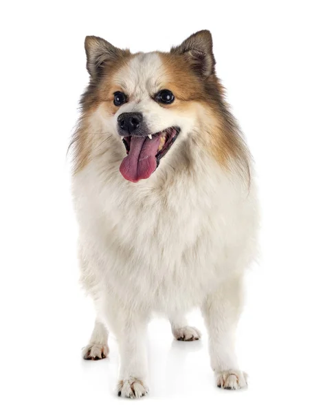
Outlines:
[[147, 179], [157, 168], [156, 153], [159, 135], [149, 139], [146, 136], [132, 136], [129, 155], [122, 160], [120, 172], [126, 180], [138, 182]]

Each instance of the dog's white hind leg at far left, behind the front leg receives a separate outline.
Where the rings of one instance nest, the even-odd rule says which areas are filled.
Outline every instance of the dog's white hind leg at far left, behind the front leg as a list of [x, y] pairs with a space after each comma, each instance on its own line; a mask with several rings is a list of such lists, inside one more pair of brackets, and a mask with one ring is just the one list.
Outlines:
[[109, 353], [108, 335], [107, 328], [96, 319], [89, 344], [82, 350], [83, 359], [105, 359]]

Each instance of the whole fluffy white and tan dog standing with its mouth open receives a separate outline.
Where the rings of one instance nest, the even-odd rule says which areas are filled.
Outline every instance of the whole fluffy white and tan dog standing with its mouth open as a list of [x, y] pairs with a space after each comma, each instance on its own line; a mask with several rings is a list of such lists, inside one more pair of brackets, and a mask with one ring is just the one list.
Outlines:
[[96, 308], [83, 357], [107, 357], [112, 331], [118, 395], [140, 398], [153, 313], [170, 320], [175, 339], [192, 341], [201, 333], [186, 313], [200, 308], [216, 385], [245, 388], [234, 332], [257, 253], [257, 190], [212, 36], [135, 54], [87, 36], [85, 51], [89, 85], [71, 141], [80, 280]]

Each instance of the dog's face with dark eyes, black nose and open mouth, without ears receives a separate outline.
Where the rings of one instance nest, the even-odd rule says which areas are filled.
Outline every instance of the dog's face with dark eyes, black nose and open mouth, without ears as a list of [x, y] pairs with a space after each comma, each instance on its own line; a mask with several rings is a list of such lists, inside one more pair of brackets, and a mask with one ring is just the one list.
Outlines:
[[111, 100], [104, 110], [124, 142], [120, 172], [131, 182], [149, 178], [179, 135], [187, 136], [194, 127], [194, 111], [183, 107], [169, 66], [161, 54], [137, 54], [111, 78]]

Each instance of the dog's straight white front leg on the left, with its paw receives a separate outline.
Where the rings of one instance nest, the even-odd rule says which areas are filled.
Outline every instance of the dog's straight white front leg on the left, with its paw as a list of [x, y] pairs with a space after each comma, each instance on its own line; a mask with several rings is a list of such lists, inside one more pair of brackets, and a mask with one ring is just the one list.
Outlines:
[[118, 313], [118, 339], [120, 373], [118, 396], [137, 399], [148, 393], [146, 385], [146, 326], [147, 318], [137, 308]]

